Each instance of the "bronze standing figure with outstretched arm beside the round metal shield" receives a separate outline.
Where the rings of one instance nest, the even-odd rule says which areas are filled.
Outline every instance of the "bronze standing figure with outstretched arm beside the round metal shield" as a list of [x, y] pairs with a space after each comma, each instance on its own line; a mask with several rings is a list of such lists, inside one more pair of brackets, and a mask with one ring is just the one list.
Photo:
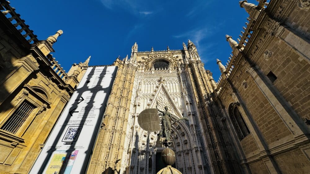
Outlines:
[[[157, 108], [157, 106], [156, 106]], [[172, 120], [171, 118], [171, 113], [168, 111], [168, 107], [165, 106], [165, 111], [161, 111], [157, 108], [157, 110], [159, 112], [161, 112], [160, 115], [162, 115], [162, 137], [163, 138], [166, 138], [166, 141], [170, 141], [170, 134], [171, 134], [171, 124], [170, 124], [170, 119]], [[176, 121], [180, 121], [180, 120], [188, 120], [187, 117], [182, 117]]]

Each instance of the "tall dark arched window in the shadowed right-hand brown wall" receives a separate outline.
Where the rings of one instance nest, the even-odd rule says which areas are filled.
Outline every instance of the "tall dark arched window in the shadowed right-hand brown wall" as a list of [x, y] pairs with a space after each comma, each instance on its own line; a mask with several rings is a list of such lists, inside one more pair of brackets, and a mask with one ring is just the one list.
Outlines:
[[239, 111], [239, 103], [232, 103], [229, 105], [229, 117], [232, 121], [232, 125], [234, 126], [239, 140], [242, 140], [245, 138], [248, 134], [250, 134], [250, 131], [248, 127], [246, 126], [246, 122], [243, 120], [243, 117]]

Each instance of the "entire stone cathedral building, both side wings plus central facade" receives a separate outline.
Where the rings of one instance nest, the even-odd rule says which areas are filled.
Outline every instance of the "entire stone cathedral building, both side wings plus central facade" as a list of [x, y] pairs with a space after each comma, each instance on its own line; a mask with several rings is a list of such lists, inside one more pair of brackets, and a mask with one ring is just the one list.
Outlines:
[[[0, 2], [0, 173], [28, 173], [90, 57], [66, 73], [50, 54], [63, 32], [38, 40]], [[162, 51], [139, 52], [135, 43], [129, 57], [114, 61], [87, 173], [160, 170], [162, 138], [137, 120], [144, 109], [165, 106], [174, 167], [184, 174], [310, 171], [310, 1], [239, 4], [249, 18], [240, 39], [226, 35], [232, 54], [226, 64], [217, 59], [219, 80], [190, 40]], [[174, 121], [182, 117], [189, 120]]]

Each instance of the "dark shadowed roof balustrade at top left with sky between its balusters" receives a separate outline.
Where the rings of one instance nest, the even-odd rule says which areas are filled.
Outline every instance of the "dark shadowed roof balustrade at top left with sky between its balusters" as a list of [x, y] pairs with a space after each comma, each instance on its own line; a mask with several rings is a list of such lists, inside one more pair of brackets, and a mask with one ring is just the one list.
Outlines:
[[17, 14], [15, 8], [9, 4], [9, 1], [0, 0], [0, 15], [4, 15], [29, 43], [37, 42], [37, 35], [33, 34], [33, 31], [29, 29], [29, 25], [24, 23], [25, 20], [21, 19], [20, 14]]

